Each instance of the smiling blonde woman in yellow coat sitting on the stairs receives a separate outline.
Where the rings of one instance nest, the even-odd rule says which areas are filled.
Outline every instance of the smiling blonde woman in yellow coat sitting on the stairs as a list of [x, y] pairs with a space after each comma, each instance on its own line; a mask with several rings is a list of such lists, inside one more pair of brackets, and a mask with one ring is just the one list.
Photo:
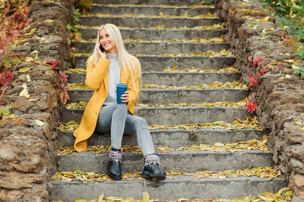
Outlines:
[[[101, 51], [100, 45], [104, 49]], [[111, 132], [111, 150], [107, 166], [108, 177], [121, 180], [121, 142], [123, 134], [136, 133], [144, 159], [142, 177], [165, 180], [166, 173], [160, 170], [160, 159], [155, 153], [147, 122], [134, 115], [134, 103], [139, 96], [141, 66], [127, 53], [117, 26], [102, 25], [98, 30], [93, 55], [87, 61], [86, 84], [94, 94], [84, 112], [80, 126], [74, 132], [74, 148], [87, 150], [87, 139], [95, 131]], [[127, 91], [121, 96], [124, 104], [117, 104], [116, 85], [126, 83]]]

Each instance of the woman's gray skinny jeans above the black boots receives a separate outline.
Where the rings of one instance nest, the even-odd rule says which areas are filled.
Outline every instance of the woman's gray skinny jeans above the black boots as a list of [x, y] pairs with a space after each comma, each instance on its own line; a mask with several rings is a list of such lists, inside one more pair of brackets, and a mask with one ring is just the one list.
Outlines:
[[129, 114], [126, 104], [112, 103], [102, 106], [95, 131], [98, 133], [111, 131], [111, 147], [118, 149], [121, 148], [123, 134], [136, 133], [138, 146], [143, 155], [155, 153], [146, 120]]

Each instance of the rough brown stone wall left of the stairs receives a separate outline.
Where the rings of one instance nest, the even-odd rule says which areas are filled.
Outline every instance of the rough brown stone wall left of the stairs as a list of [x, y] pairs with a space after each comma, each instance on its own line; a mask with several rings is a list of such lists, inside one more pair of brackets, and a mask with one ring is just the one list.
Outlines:
[[[54, 60], [66, 69], [69, 45], [67, 24], [72, 24], [73, 1], [31, 0], [28, 18], [33, 18], [33, 35], [14, 51], [24, 57]], [[53, 22], [46, 22], [52, 19]], [[29, 29], [29, 30], [30, 30]], [[25, 37], [25, 36], [24, 36]], [[32, 63], [18, 65], [15, 71], [31, 67], [26, 74], [15, 73], [11, 87], [2, 97], [2, 104], [11, 106], [16, 118], [0, 121], [0, 201], [49, 201], [49, 181], [55, 172], [56, 128], [59, 122], [59, 76], [50, 67]], [[56, 70], [57, 71], [57, 70]], [[30, 97], [19, 96], [26, 83]], [[39, 126], [34, 120], [44, 122]]]

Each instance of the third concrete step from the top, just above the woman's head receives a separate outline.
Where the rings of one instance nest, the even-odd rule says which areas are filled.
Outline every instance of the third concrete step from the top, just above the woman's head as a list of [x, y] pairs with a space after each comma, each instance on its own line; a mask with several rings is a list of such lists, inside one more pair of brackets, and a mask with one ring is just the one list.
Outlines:
[[163, 24], [165, 27], [196, 27], [213, 25], [222, 22], [219, 18], [200, 18], [200, 19], [183, 19], [183, 18], [156, 18], [156, 17], [85, 17], [81, 16], [79, 24], [100, 26], [101, 22], [111, 22], [112, 24], [124, 27], [156, 27]]

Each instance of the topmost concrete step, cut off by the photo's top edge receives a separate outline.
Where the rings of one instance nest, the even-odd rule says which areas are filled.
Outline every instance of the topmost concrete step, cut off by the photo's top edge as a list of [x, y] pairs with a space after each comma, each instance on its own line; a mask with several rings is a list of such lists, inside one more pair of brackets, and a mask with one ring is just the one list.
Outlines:
[[201, 0], [92, 0], [93, 4], [133, 4], [133, 5], [174, 5], [174, 6], [191, 6], [200, 5]]

